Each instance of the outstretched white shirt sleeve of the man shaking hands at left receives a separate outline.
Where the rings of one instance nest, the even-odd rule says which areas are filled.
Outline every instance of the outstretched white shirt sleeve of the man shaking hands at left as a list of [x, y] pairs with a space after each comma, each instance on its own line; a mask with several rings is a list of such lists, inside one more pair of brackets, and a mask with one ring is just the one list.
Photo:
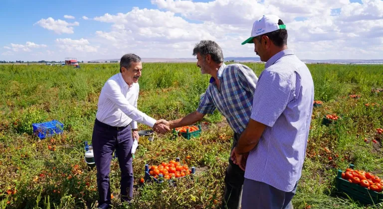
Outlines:
[[148, 116], [144, 112], [138, 110], [134, 105], [129, 104], [128, 100], [121, 93], [120, 87], [113, 80], [108, 80], [103, 88], [105, 96], [111, 100], [118, 108], [121, 109], [132, 120], [144, 123], [149, 127], [153, 127], [156, 119]]

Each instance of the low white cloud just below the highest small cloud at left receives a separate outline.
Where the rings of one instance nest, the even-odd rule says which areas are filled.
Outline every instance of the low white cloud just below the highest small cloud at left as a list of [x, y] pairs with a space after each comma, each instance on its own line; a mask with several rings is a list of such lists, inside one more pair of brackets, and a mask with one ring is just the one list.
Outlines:
[[78, 51], [78, 52], [97, 52], [97, 46], [90, 46], [87, 39], [73, 40], [70, 38], [57, 38], [56, 43], [60, 49], [66, 52]]

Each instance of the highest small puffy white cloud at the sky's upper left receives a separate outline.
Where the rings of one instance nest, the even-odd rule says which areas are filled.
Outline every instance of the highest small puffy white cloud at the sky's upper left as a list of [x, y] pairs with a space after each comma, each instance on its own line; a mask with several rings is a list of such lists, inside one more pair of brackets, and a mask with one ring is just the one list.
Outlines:
[[72, 34], [74, 33], [73, 27], [71, 26], [79, 26], [79, 22], [67, 22], [65, 20], [57, 19], [54, 20], [52, 17], [48, 17], [47, 19], [40, 19], [33, 25], [40, 25], [41, 27], [48, 29], [48, 30], [53, 30], [57, 34], [62, 34], [62, 33], [68, 33]]

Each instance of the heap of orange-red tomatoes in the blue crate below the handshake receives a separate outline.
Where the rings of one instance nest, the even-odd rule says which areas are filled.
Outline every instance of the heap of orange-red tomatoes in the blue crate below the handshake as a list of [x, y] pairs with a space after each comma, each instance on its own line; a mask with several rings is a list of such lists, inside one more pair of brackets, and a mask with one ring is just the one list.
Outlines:
[[162, 162], [158, 166], [150, 167], [149, 174], [156, 179], [158, 179], [160, 174], [163, 175], [164, 179], [172, 179], [188, 176], [191, 174], [191, 171], [187, 164], [181, 165], [180, 162], [171, 160], [169, 163]]

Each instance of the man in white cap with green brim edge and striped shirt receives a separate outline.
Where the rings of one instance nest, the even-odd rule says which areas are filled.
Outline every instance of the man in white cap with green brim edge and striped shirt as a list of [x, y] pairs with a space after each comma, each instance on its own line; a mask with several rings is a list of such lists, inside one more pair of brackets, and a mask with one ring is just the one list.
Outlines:
[[[266, 62], [254, 92], [250, 121], [235, 147], [245, 170], [242, 209], [291, 209], [301, 177], [314, 101], [307, 66], [287, 48], [286, 25], [263, 15], [242, 44]], [[250, 152], [247, 161], [243, 154]]]

